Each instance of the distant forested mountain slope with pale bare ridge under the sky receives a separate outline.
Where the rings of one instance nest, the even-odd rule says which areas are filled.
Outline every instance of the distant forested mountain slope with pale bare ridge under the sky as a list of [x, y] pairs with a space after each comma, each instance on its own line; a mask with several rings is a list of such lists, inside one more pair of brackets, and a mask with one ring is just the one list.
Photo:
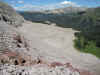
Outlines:
[[76, 13], [85, 13], [87, 8], [81, 7], [66, 7], [55, 10], [47, 10], [40, 12], [26, 11], [20, 12], [20, 14], [26, 19], [32, 22], [42, 23], [56, 23], [60, 26], [71, 27], [72, 18], [77, 17]]

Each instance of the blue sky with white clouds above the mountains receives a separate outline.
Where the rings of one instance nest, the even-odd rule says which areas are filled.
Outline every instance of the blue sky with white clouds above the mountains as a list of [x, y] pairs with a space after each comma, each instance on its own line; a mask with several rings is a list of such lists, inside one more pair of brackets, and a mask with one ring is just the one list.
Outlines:
[[1, 0], [11, 5], [16, 10], [50, 10], [68, 6], [98, 7], [100, 0]]

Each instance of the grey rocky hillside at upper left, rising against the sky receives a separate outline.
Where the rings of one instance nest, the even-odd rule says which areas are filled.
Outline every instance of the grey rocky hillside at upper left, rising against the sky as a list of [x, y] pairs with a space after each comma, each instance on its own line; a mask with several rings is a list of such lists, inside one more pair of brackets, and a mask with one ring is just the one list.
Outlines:
[[10, 25], [19, 26], [24, 21], [24, 18], [8, 4], [0, 2], [0, 20]]

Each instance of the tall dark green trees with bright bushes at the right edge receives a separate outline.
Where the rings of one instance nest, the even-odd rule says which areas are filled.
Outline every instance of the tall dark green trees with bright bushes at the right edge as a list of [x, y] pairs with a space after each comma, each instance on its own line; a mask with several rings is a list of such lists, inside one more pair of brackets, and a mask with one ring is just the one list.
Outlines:
[[83, 21], [80, 32], [75, 34], [75, 47], [100, 57], [100, 8], [89, 9], [80, 17]]

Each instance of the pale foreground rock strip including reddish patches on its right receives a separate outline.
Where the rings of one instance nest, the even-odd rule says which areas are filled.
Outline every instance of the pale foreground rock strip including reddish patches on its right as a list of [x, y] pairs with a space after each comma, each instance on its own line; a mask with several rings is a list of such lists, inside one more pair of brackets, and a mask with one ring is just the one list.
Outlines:
[[[55, 63], [55, 64], [54, 64]], [[60, 65], [59, 65], [60, 64]], [[53, 66], [52, 66], [53, 65]], [[36, 64], [33, 66], [0, 65], [2, 75], [92, 75], [88, 71], [73, 68], [70, 63]]]

